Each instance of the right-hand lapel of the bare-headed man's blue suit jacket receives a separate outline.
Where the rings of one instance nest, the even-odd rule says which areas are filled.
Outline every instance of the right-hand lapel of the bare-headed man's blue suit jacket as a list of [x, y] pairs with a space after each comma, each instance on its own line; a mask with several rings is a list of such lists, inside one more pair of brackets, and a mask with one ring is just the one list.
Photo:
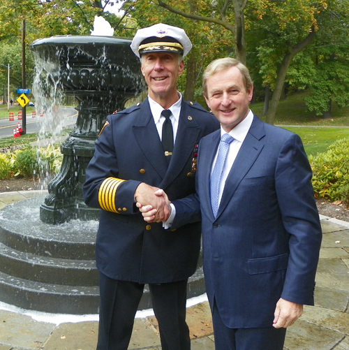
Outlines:
[[258, 158], [264, 147], [264, 143], [261, 142], [264, 136], [265, 131], [263, 124], [258, 117], [254, 116], [250, 130], [242, 143], [239, 153], [237, 154], [237, 158], [235, 159], [227, 180], [225, 181], [225, 187], [223, 190], [221, 203], [218, 207], [217, 217], [228, 205], [240, 182], [245, 177], [251, 166], [253, 166], [255, 160]]

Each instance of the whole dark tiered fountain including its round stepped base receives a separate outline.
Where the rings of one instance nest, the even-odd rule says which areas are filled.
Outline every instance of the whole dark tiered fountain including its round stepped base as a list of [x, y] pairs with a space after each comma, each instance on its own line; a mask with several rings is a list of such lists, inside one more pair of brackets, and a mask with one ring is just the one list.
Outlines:
[[[105, 118], [144, 88], [130, 43], [111, 36], [54, 36], [31, 44], [39, 70], [34, 92], [43, 94], [36, 96], [37, 108], [50, 112], [64, 91], [79, 102], [78, 115], [61, 144], [61, 170], [44, 203], [43, 197], [32, 198], [0, 210], [0, 301], [43, 312], [98, 313], [99, 210], [84, 204], [82, 184]], [[188, 297], [202, 293], [198, 268]], [[139, 309], [150, 307], [146, 290]]]

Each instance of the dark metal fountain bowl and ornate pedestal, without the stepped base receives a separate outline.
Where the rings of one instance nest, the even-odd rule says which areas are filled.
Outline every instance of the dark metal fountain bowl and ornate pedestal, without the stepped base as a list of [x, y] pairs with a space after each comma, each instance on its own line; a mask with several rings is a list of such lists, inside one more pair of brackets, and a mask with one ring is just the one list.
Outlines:
[[140, 62], [130, 43], [105, 36], [53, 36], [31, 44], [40, 61], [48, 62], [50, 69], [57, 66], [57, 71], [47, 69], [39, 77], [38, 86], [45, 90], [48, 75], [50, 85], [80, 102], [75, 128], [61, 145], [61, 170], [40, 206], [40, 219], [47, 224], [99, 217], [99, 210], [84, 204], [82, 185], [105, 118], [124, 109], [125, 101], [143, 87]]

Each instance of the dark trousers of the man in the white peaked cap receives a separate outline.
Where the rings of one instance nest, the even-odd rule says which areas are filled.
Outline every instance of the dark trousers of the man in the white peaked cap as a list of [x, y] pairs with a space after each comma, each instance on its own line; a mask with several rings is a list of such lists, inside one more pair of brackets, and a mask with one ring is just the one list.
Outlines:
[[[163, 350], [190, 350], [186, 324], [187, 280], [149, 284]], [[127, 350], [144, 284], [118, 281], [100, 273], [101, 310], [97, 350]]]

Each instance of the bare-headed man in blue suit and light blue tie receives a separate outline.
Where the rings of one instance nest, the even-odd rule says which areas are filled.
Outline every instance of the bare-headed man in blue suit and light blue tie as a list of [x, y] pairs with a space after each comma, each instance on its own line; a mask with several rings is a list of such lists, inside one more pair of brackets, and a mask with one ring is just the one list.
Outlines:
[[[322, 232], [309, 161], [299, 136], [253, 115], [239, 61], [211, 62], [203, 89], [221, 129], [200, 141], [196, 194], [168, 205], [166, 225], [202, 220], [216, 349], [282, 350], [286, 328], [313, 305]], [[138, 207], [149, 222], [163, 212]]]

